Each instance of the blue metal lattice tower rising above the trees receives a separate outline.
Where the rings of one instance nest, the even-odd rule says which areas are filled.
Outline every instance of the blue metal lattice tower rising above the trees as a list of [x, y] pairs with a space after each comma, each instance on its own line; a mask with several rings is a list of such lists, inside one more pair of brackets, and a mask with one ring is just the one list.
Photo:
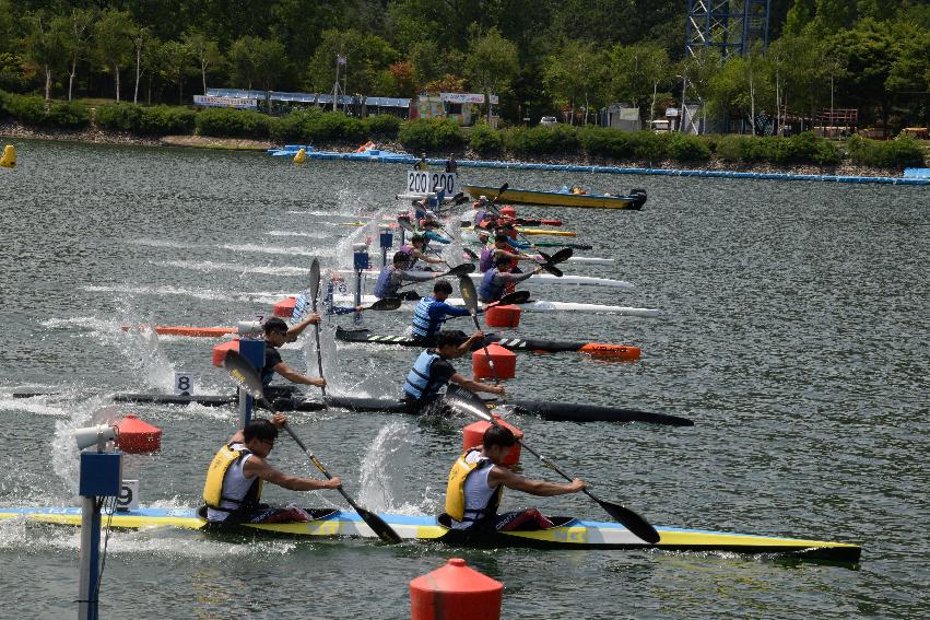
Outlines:
[[768, 47], [769, 0], [687, 0], [685, 51], [720, 51], [723, 61], [743, 55], [761, 40]]

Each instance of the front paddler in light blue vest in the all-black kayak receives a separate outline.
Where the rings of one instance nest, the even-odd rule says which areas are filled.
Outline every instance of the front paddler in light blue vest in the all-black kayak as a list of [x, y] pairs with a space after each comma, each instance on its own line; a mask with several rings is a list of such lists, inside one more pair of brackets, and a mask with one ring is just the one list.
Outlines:
[[502, 386], [470, 379], [457, 373], [456, 367], [449, 363], [449, 360], [461, 358], [471, 351], [472, 344], [481, 342], [483, 339], [483, 331], [475, 331], [471, 338], [462, 331], [448, 329], [436, 334], [435, 348], [420, 353], [420, 356], [413, 363], [413, 369], [403, 382], [404, 399], [416, 409], [422, 409], [437, 401], [440, 396], [439, 391], [449, 382], [470, 391], [486, 391], [487, 394], [504, 396], [506, 393]]

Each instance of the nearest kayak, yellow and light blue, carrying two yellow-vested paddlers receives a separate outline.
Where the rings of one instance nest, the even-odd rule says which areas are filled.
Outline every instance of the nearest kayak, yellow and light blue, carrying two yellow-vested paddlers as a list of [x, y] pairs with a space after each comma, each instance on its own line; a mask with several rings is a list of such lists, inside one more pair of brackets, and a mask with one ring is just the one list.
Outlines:
[[[238, 533], [249, 536], [285, 536], [318, 538], [377, 538], [370, 527], [351, 511], [309, 508], [314, 520], [301, 523], [244, 524], [222, 527], [217, 533]], [[140, 507], [104, 513], [104, 522], [114, 528], [140, 529], [172, 527], [204, 529], [208, 523], [192, 507]], [[616, 523], [587, 520], [576, 517], [550, 517], [554, 527], [535, 530], [468, 533], [448, 527], [448, 516], [399, 515], [378, 513], [403, 540], [439, 542], [466, 548], [531, 548], [531, 549], [657, 549], [661, 551], [725, 552], [793, 555], [855, 564], [862, 549], [847, 542], [828, 542], [800, 538], [755, 536], [729, 531], [657, 527], [660, 539], [649, 545]], [[27, 519], [38, 523], [80, 526], [80, 507], [4, 507], [0, 519]]]

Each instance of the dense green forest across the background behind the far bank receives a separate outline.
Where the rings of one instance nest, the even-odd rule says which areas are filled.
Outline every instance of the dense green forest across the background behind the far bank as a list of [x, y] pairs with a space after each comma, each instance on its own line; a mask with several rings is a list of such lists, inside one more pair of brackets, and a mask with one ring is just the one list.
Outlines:
[[0, 0], [0, 90], [189, 105], [207, 87], [495, 93], [503, 126], [644, 120], [688, 98], [711, 118], [857, 108], [895, 134], [930, 117], [930, 4], [773, 0], [769, 44], [685, 52], [684, 0]]

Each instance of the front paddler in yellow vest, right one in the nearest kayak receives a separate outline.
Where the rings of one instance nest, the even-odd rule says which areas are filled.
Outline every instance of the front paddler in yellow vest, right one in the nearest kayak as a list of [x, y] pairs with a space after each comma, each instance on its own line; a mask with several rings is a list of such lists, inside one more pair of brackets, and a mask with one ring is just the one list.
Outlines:
[[501, 465], [517, 443], [510, 429], [494, 425], [484, 432], [481, 446], [462, 454], [449, 471], [446, 487], [446, 514], [452, 529], [510, 531], [553, 527], [538, 508], [497, 514], [504, 487], [548, 498], [577, 493], [585, 489], [576, 478], [568, 484], [531, 480]]

